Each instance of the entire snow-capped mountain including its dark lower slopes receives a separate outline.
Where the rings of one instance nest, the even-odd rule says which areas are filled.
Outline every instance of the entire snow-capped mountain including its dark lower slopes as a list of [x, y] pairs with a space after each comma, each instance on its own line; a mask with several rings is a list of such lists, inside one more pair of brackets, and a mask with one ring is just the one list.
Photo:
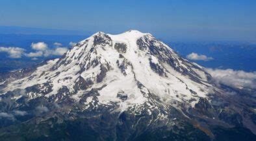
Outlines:
[[[211, 125], [231, 128], [240, 122], [255, 132], [251, 116], [224, 93], [203, 67], [181, 58], [151, 34], [97, 32], [62, 58], [2, 77], [1, 112], [12, 115], [13, 121], [5, 120], [2, 126], [29, 120], [27, 126], [45, 125], [41, 134], [34, 132], [51, 139], [49, 130], [81, 119], [88, 132], [100, 135], [91, 136], [97, 140], [140, 140], [150, 129], [162, 135], [158, 139], [212, 139], [217, 133]], [[26, 113], [23, 120], [16, 117], [17, 111]], [[3, 132], [10, 135], [5, 128]]]

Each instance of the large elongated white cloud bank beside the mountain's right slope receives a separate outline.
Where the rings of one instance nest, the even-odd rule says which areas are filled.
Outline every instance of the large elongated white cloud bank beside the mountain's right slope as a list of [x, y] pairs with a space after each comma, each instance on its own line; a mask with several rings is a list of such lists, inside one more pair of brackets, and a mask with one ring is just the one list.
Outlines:
[[206, 69], [217, 82], [230, 87], [256, 89], [256, 72], [233, 69]]

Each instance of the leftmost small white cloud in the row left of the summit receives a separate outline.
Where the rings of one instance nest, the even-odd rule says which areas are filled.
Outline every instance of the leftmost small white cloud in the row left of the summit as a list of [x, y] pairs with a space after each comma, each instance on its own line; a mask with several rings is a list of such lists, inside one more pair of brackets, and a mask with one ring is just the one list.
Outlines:
[[0, 47], [0, 52], [7, 52], [9, 58], [21, 58], [25, 49], [19, 47]]

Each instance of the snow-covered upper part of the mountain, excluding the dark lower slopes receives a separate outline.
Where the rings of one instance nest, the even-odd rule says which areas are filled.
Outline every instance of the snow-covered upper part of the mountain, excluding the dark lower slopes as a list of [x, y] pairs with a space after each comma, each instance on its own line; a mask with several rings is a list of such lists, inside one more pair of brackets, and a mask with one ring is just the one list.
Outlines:
[[[100, 89], [95, 97], [99, 103], [118, 103], [122, 110], [148, 102], [150, 94], [164, 104], [194, 106], [212, 87], [208, 77], [201, 67], [180, 58], [151, 34], [97, 32], [62, 58], [47, 61], [30, 76], [8, 83], [3, 92], [36, 84], [40, 92], [29, 92], [31, 99], [45, 96], [58, 102], [70, 94], [79, 102], [84, 92]], [[62, 89], [67, 91], [58, 94]]]

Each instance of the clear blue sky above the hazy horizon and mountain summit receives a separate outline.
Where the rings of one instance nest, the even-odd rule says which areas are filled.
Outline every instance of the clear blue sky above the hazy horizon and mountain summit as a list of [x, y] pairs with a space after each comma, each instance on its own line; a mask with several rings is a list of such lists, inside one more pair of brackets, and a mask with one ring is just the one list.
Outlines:
[[256, 42], [255, 0], [1, 0], [0, 25], [103, 31], [164, 39]]

